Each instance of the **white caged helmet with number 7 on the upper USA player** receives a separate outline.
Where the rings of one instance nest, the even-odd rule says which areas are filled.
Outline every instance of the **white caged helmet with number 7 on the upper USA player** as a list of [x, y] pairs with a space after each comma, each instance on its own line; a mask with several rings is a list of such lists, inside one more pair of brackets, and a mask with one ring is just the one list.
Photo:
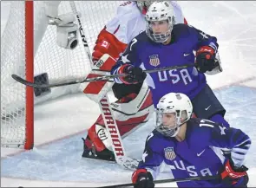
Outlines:
[[[173, 5], [168, 1], [157, 1], [152, 3], [148, 8], [146, 21], [146, 33], [148, 37], [154, 42], [166, 42], [168, 37], [171, 36], [175, 24]], [[167, 21], [167, 32], [162, 34], [154, 34], [151, 23], [155, 21]]]

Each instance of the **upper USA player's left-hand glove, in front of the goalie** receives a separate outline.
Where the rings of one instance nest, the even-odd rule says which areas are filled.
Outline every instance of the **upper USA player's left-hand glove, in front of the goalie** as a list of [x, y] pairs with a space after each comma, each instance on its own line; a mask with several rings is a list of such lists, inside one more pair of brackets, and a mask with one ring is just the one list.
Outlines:
[[136, 84], [142, 83], [147, 74], [143, 72], [141, 68], [134, 67], [133, 65], [122, 65], [119, 70], [118, 74], [128, 74], [127, 76], [120, 77], [121, 82], [125, 84]]

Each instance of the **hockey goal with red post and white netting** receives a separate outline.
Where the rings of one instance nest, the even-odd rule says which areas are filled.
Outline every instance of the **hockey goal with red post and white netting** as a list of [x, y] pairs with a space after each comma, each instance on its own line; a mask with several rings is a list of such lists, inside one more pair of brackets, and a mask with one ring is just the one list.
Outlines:
[[[8, 3], [10, 14], [1, 36], [1, 146], [31, 149], [34, 145], [34, 107], [63, 94], [82, 93], [82, 90], [79, 84], [33, 89], [14, 81], [11, 75], [51, 83], [84, 78], [91, 68], [80, 35], [77, 33], [75, 49], [59, 47], [56, 25], [49, 23], [46, 14], [48, 9], [56, 9], [58, 16], [72, 13], [69, 1]], [[75, 1], [91, 52], [99, 32], [115, 16], [121, 3], [123, 1]], [[75, 24], [79, 25], [76, 19]]]

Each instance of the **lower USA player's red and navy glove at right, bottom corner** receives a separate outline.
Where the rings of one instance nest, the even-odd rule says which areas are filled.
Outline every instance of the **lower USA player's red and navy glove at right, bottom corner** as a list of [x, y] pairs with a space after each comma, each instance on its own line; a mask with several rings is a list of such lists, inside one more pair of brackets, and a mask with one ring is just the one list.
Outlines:
[[245, 165], [236, 167], [233, 165], [233, 161], [228, 159], [224, 167], [225, 169], [221, 172], [220, 177], [226, 186], [246, 187], [249, 178], [246, 173], [248, 168]]

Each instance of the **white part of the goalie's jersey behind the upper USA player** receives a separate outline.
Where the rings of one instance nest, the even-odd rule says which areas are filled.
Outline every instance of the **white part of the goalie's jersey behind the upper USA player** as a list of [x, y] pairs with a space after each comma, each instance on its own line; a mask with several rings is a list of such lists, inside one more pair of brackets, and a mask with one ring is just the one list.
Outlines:
[[[176, 1], [170, 1], [170, 3], [174, 7], [175, 23], [184, 23], [181, 6]], [[115, 17], [106, 24], [106, 30], [125, 44], [131, 42], [135, 36], [145, 29], [145, 15], [141, 14], [136, 2], [121, 4]]]

